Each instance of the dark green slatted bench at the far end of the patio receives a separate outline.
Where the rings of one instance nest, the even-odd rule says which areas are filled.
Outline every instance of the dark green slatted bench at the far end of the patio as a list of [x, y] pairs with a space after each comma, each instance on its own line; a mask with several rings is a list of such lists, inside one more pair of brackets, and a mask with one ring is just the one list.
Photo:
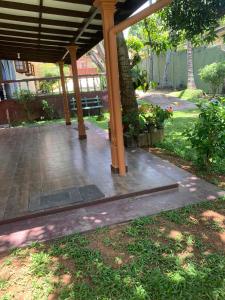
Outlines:
[[[98, 96], [95, 98], [82, 98], [81, 101], [84, 116], [95, 116], [101, 114], [103, 105]], [[74, 113], [77, 111], [77, 103], [74, 98], [70, 99], [70, 110]]]

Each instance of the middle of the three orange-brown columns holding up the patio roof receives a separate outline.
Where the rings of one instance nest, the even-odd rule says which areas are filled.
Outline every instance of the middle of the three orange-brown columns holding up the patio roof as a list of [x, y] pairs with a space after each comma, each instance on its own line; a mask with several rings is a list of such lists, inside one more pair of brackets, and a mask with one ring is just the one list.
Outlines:
[[74, 88], [74, 96], [77, 104], [77, 119], [78, 119], [78, 132], [79, 139], [83, 140], [87, 138], [84, 118], [83, 118], [83, 109], [81, 102], [81, 94], [78, 80], [78, 71], [77, 71], [77, 46], [69, 45], [66, 47], [70, 53], [71, 66], [72, 66], [72, 74], [73, 74], [73, 88]]

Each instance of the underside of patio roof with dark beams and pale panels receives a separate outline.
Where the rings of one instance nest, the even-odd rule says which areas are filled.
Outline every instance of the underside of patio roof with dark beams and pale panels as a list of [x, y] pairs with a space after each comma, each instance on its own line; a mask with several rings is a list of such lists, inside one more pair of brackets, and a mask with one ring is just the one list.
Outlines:
[[[0, 0], [0, 59], [57, 62], [75, 42], [78, 57], [102, 40], [100, 12], [94, 0]], [[146, 0], [119, 0], [115, 23], [128, 18]], [[69, 55], [65, 56], [68, 63]]]

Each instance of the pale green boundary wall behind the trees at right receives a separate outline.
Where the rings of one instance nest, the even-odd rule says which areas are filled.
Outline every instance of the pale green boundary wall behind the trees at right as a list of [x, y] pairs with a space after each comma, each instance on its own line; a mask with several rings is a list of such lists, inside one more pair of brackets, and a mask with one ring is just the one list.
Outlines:
[[[205, 65], [220, 61], [225, 61], [225, 51], [221, 49], [221, 46], [199, 47], [193, 49], [194, 75], [197, 88], [202, 89], [207, 93], [211, 92], [210, 86], [201, 81], [199, 69], [203, 68]], [[165, 63], [166, 54], [153, 56], [153, 81], [157, 82], [159, 86], [162, 86], [163, 83]], [[143, 60], [140, 66], [142, 69], [147, 70], [149, 80], [151, 80], [150, 59], [148, 58]], [[184, 50], [171, 53], [168, 75], [168, 87], [172, 87], [174, 89], [186, 88], [187, 51]]]

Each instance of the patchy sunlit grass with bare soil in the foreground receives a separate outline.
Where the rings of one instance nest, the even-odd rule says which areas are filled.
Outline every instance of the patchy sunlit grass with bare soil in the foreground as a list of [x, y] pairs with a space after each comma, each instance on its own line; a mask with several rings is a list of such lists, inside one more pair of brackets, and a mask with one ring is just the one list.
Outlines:
[[0, 299], [225, 299], [225, 199], [0, 256]]

